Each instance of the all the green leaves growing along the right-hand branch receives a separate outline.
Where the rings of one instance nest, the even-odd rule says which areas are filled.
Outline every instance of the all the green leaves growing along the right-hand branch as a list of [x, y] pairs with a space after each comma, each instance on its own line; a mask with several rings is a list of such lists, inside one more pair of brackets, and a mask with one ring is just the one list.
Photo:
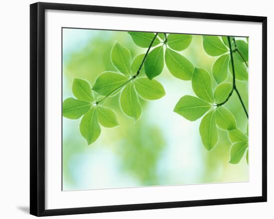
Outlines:
[[[212, 81], [208, 71], [195, 67], [191, 83], [197, 97], [183, 96], [175, 105], [174, 112], [190, 121], [203, 117], [199, 133], [202, 143], [208, 151], [212, 150], [219, 140], [217, 128], [228, 131], [229, 139], [233, 143], [230, 152], [230, 163], [236, 164], [239, 163], [248, 148], [248, 137], [237, 128], [234, 115], [224, 106], [232, 94], [233, 86], [235, 86], [231, 82], [226, 82], [228, 72], [230, 71], [233, 74], [228, 39], [231, 39], [231, 37], [203, 36], [205, 52], [210, 56], [218, 56], [212, 66], [212, 76], [217, 85], [214, 89], [213, 84], [215, 83]], [[237, 49], [236, 45], [239, 41], [241, 41], [239, 43], [240, 47], [247, 49], [248, 45], [246, 42], [232, 39], [234, 50]], [[244, 52], [245, 49], [242, 51]], [[244, 57], [247, 57], [247, 54], [244, 53]], [[248, 72], [244, 61], [240, 57], [235, 56], [235, 77], [238, 80], [247, 81]], [[238, 138], [236, 140], [237, 135], [242, 136], [243, 139]]]

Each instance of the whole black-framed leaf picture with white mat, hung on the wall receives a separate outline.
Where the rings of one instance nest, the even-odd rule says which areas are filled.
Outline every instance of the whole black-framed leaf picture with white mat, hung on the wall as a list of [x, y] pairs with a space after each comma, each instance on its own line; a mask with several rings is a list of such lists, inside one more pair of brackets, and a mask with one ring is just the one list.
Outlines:
[[30, 5], [30, 214], [267, 201], [267, 17]]

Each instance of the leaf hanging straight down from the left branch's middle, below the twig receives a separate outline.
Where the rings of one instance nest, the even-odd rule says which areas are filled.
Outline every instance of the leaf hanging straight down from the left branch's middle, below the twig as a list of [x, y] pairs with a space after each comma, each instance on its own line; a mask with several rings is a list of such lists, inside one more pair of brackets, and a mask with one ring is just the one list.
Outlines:
[[120, 105], [122, 111], [137, 122], [141, 116], [142, 108], [133, 83], [127, 84], [122, 91]]

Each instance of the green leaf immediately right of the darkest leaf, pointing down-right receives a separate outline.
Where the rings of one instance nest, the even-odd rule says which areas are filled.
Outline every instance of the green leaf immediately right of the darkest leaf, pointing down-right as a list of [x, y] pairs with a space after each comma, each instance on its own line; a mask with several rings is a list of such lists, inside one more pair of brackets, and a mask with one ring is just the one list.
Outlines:
[[193, 64], [181, 54], [166, 48], [165, 63], [169, 72], [176, 78], [181, 80], [191, 80], [194, 66]]

